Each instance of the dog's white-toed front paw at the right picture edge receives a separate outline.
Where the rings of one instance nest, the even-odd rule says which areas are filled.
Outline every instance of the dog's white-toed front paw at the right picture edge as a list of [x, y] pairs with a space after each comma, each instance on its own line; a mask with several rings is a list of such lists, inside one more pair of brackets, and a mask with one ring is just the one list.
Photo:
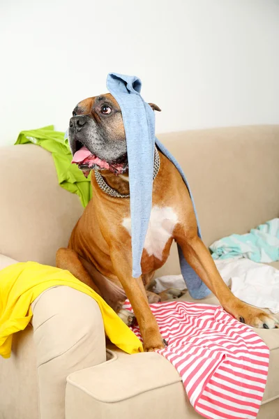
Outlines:
[[237, 304], [237, 307], [232, 313], [233, 316], [241, 323], [246, 323], [253, 328], [259, 329], [277, 329], [279, 328], [279, 321], [277, 318], [267, 314], [266, 311], [250, 307], [248, 304]]

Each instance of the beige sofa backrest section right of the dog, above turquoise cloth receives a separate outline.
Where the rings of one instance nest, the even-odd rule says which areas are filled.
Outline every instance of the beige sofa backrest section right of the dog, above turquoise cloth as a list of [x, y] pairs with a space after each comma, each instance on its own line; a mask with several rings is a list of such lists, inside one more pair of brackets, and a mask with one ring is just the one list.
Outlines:
[[[181, 163], [206, 246], [279, 216], [279, 125], [166, 133]], [[157, 275], [179, 274], [176, 246]]]

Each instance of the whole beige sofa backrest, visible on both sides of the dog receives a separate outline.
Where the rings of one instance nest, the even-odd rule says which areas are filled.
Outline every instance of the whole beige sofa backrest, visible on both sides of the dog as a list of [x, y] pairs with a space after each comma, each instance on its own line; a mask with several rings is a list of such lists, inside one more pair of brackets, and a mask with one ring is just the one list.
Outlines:
[[[186, 174], [206, 245], [279, 215], [279, 125], [158, 138]], [[0, 197], [0, 253], [54, 265], [83, 209], [59, 186], [51, 154], [36, 145], [0, 148]], [[159, 273], [178, 272], [173, 250]]]

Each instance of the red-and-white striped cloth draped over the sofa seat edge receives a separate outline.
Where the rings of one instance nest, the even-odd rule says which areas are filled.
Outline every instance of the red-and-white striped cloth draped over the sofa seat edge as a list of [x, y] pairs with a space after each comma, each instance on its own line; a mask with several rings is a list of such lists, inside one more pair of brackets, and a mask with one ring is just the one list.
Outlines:
[[[256, 418], [269, 369], [259, 335], [221, 307], [177, 300], [150, 307], [168, 342], [158, 353], [181, 375], [194, 409], [209, 419]], [[132, 311], [128, 301], [123, 308]], [[131, 329], [141, 339], [139, 327]]]

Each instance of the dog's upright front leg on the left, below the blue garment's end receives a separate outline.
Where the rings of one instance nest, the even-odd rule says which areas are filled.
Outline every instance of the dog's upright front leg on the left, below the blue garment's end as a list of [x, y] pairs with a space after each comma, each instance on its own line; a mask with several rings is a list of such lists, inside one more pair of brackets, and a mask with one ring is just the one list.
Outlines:
[[133, 307], [133, 311], [140, 326], [144, 351], [151, 352], [165, 347], [156, 318], [151, 313], [146, 297], [142, 278], [133, 278], [132, 263], [123, 249], [110, 249], [110, 256], [114, 271], [123, 286], [123, 289]]

